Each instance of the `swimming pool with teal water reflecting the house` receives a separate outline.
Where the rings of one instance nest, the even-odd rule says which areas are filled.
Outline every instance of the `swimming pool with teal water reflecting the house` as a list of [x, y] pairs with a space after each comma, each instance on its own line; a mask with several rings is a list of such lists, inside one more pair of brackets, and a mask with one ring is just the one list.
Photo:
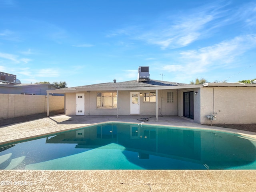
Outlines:
[[256, 169], [256, 140], [145, 124], [98, 124], [0, 146], [0, 169]]

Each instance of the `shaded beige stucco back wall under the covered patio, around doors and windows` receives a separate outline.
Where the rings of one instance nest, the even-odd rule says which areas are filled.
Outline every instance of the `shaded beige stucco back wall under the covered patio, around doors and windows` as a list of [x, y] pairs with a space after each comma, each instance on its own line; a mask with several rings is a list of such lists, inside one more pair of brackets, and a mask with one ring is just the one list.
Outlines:
[[[174, 92], [174, 102], [167, 103], [167, 92]], [[140, 96], [140, 114], [156, 115], [156, 102], [143, 102], [144, 92], [156, 92], [155, 90], [143, 91], [118, 91], [118, 110], [117, 109], [96, 109], [97, 91], [79, 92], [84, 93], [85, 115], [130, 115], [130, 92], [142, 93]], [[158, 108], [161, 108], [162, 115], [178, 115], [178, 91], [159, 90]], [[76, 93], [66, 93], [66, 115], [76, 115]], [[158, 115], [160, 112], [158, 110]]]

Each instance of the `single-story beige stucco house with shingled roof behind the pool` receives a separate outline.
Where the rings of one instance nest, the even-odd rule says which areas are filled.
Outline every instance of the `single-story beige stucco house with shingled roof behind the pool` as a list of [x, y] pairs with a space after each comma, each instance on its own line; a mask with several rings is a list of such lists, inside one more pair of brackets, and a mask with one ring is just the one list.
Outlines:
[[142, 115], [156, 120], [163, 115], [200, 124], [256, 123], [256, 84], [114, 80], [47, 93], [65, 94], [66, 115]]

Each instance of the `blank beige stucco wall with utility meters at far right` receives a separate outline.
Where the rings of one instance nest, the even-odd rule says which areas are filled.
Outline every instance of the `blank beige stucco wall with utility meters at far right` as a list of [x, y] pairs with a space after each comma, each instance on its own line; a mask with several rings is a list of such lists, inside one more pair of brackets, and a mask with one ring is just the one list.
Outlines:
[[218, 113], [212, 124], [256, 123], [256, 87], [201, 88], [201, 124], [210, 124], [207, 115]]

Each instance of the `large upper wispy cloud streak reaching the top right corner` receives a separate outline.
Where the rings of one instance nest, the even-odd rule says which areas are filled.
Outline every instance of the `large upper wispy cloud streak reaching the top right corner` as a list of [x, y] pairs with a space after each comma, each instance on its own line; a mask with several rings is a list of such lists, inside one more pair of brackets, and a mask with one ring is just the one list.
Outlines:
[[187, 12], [167, 13], [140, 27], [126, 26], [114, 30], [108, 37], [128, 36], [166, 50], [182, 48], [209, 38], [223, 27], [234, 23], [244, 22], [251, 26], [255, 24], [255, 3], [245, 4], [237, 10], [230, 9], [229, 5], [230, 2], [217, 1]]

